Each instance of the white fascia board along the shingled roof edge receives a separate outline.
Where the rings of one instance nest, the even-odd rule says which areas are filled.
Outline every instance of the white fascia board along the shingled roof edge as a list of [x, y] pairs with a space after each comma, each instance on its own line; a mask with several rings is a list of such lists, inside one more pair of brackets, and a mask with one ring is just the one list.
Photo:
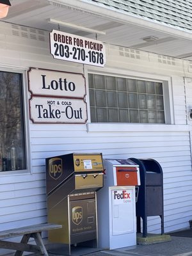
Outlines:
[[[87, 0], [73, 0], [68, 3], [68, 0], [47, 0], [49, 3], [61, 4], [63, 6], [68, 6], [74, 8], [74, 10], [81, 10], [82, 12], [88, 12], [92, 15], [97, 15], [100, 17], [105, 17], [111, 20], [116, 20], [116, 22], [121, 22], [122, 24], [132, 24], [134, 26], [140, 26], [141, 28], [148, 28], [154, 31], [159, 31], [166, 33], [168, 35], [177, 36], [179, 38], [192, 40], [192, 31], [185, 31], [181, 28], [173, 28], [171, 25], [166, 25], [162, 22], [157, 22], [156, 20], [146, 20], [142, 17], [136, 17], [131, 13], [124, 13], [122, 11], [116, 11], [110, 9], [107, 6], [99, 6], [98, 4], [90, 3]], [[94, 7], [93, 7], [94, 6]]]

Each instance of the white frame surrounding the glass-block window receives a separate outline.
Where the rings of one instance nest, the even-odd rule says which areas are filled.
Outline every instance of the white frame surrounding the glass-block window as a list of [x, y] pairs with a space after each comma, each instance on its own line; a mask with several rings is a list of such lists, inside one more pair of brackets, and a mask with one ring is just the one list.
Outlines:
[[[130, 79], [138, 79], [138, 80], [145, 80], [145, 81], [154, 81], [157, 83], [163, 83], [163, 101], [164, 101], [164, 120], [165, 124], [154, 124], [154, 123], [120, 123], [120, 122], [115, 122], [115, 123], [110, 123], [110, 122], [91, 122], [91, 117], [90, 117], [90, 94], [89, 94], [89, 84], [88, 84], [88, 74], [98, 74], [102, 76], [115, 76], [115, 77], [122, 77], [122, 78], [130, 78]], [[84, 76], [86, 77], [86, 90], [87, 90], [87, 95], [86, 95], [86, 102], [88, 103], [88, 121], [87, 121], [87, 127], [88, 131], [92, 130], [92, 126], [95, 127], [95, 125], [98, 125], [98, 128], [102, 127], [101, 131], [108, 131], [109, 125], [110, 131], [116, 130], [116, 127], [118, 125], [118, 129], [120, 126], [126, 127], [125, 131], [129, 131], [131, 128], [134, 129], [133, 127], [138, 127], [138, 126], [144, 126], [148, 127], [157, 127], [163, 126], [163, 125], [173, 125], [174, 124], [174, 118], [173, 118], [173, 92], [172, 92], [172, 79], [170, 76], [161, 76], [161, 75], [156, 75], [156, 74], [149, 74], [149, 73], [143, 73], [143, 72], [136, 72], [132, 70], [118, 70], [118, 73], [116, 72], [116, 69], [114, 68], [105, 68], [104, 70], [100, 70], [100, 68], [87, 68], [84, 70]], [[105, 129], [106, 127], [106, 129]], [[146, 129], [148, 129], [146, 127]], [[93, 129], [94, 130], [94, 129]]]

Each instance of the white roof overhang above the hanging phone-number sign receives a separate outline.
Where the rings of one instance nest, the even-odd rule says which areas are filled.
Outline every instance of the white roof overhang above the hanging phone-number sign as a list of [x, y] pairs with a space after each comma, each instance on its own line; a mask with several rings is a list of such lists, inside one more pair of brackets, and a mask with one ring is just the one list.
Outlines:
[[[0, 22], [47, 31], [60, 29], [94, 39], [97, 36], [98, 40], [106, 44], [192, 61], [192, 33], [184, 29], [136, 17], [88, 0], [11, 0], [10, 2], [12, 6], [8, 16]], [[59, 20], [63, 25], [53, 24], [49, 22], [50, 20]], [[98, 31], [104, 33], [99, 34]], [[145, 38], [156, 39], [146, 41]]]

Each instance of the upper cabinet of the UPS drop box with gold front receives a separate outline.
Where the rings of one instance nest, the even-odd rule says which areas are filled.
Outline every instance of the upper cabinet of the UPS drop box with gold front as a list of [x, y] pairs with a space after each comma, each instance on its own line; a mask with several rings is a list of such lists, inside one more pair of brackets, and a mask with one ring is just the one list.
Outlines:
[[72, 190], [95, 191], [103, 186], [101, 154], [67, 154], [47, 158], [45, 161], [47, 195], [66, 180], [72, 183]]

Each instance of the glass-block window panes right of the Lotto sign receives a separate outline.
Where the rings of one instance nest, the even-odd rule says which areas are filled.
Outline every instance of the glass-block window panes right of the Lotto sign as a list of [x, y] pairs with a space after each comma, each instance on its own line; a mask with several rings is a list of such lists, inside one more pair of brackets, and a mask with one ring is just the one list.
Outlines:
[[163, 83], [88, 75], [91, 122], [165, 124]]

